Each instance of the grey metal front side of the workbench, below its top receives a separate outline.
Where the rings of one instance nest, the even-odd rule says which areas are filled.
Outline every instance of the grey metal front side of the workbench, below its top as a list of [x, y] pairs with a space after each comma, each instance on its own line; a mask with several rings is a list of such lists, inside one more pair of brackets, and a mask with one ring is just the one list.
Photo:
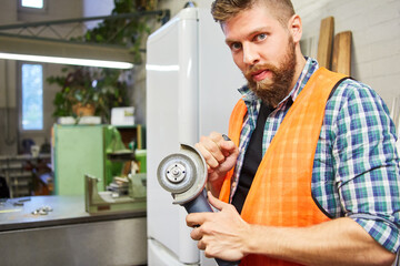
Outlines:
[[110, 266], [148, 260], [144, 217], [6, 231], [0, 238], [1, 265]]

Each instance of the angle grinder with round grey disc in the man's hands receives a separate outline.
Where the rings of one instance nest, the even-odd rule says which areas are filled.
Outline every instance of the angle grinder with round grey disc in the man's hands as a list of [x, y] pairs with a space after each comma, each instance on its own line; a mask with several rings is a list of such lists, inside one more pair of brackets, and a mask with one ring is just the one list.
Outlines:
[[[179, 153], [166, 156], [157, 170], [160, 185], [172, 194], [173, 204], [183, 206], [188, 213], [213, 212], [207, 200], [207, 164], [200, 152], [181, 144]], [[216, 258], [219, 266], [236, 266], [238, 262]]]

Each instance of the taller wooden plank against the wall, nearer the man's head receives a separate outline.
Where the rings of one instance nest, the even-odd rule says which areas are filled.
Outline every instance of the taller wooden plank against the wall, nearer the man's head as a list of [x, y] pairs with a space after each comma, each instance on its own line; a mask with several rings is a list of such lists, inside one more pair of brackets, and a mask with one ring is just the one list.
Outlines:
[[317, 60], [320, 66], [330, 69], [332, 57], [334, 19], [328, 17], [321, 20], [320, 35], [318, 40]]

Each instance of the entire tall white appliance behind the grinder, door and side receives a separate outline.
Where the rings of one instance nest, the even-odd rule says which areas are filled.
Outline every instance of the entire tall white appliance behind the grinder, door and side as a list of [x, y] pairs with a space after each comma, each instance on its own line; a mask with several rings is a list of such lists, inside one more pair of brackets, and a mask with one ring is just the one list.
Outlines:
[[[207, 9], [184, 9], [148, 39], [147, 177], [149, 265], [159, 266], [157, 249], [180, 263], [198, 264], [183, 207], [157, 181], [157, 167], [179, 144], [194, 144], [200, 134], [228, 132], [228, 121], [244, 83], [224, 35]], [[163, 252], [166, 252], [163, 250]], [[168, 264], [164, 264], [168, 265]], [[178, 265], [178, 264], [177, 264]], [[216, 265], [201, 256], [201, 265]]]

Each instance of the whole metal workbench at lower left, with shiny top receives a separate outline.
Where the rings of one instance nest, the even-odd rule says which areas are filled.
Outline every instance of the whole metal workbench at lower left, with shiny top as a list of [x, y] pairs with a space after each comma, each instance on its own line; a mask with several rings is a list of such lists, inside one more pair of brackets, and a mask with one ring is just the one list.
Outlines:
[[90, 215], [83, 196], [0, 200], [1, 265], [146, 265], [146, 208]]

